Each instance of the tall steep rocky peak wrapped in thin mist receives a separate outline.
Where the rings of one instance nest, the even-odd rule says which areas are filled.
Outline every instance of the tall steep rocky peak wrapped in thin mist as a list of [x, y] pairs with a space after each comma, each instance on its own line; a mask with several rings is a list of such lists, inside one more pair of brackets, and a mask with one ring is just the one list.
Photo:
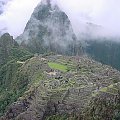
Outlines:
[[76, 39], [68, 16], [57, 5], [52, 5], [51, 0], [42, 0], [24, 33], [17, 38], [33, 53], [53, 51], [67, 55], [75, 55], [77, 51], [80, 54], [81, 47]]

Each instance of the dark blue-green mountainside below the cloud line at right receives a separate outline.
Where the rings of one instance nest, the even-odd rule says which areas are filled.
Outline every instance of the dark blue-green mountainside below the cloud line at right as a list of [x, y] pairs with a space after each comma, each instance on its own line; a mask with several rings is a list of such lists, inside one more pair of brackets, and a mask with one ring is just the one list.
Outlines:
[[87, 41], [86, 52], [95, 60], [120, 70], [120, 42], [110, 40]]

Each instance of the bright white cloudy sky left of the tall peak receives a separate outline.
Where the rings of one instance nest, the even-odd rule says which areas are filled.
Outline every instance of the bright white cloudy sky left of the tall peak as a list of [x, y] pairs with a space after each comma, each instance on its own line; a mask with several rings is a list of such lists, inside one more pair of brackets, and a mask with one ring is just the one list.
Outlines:
[[40, 0], [9, 0], [0, 16], [0, 30], [14, 37], [21, 34]]

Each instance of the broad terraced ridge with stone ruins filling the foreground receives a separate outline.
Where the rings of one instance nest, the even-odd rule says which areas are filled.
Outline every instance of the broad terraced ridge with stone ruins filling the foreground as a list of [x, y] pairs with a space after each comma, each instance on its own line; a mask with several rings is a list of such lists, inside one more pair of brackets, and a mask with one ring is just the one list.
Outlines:
[[120, 72], [85, 56], [36, 56], [19, 73], [26, 92], [1, 120], [112, 120], [120, 112]]

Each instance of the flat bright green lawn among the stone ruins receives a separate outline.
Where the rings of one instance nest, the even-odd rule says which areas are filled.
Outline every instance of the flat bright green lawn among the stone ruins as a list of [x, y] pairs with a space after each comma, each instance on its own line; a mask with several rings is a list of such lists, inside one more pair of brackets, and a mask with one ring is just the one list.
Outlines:
[[63, 72], [68, 71], [68, 67], [66, 65], [62, 65], [62, 64], [58, 64], [58, 63], [54, 63], [54, 62], [49, 62], [48, 65], [51, 69], [56, 69], [56, 70], [60, 70]]

